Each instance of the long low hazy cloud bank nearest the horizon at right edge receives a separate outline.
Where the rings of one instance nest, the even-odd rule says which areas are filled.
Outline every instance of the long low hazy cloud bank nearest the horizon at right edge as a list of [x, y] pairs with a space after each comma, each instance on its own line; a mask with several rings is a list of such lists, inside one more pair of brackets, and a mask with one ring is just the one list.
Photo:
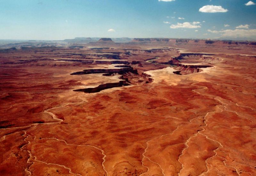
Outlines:
[[218, 33], [225, 37], [256, 37], [256, 29], [235, 29], [235, 30], [221, 30], [221, 31], [211, 31], [211, 33]]

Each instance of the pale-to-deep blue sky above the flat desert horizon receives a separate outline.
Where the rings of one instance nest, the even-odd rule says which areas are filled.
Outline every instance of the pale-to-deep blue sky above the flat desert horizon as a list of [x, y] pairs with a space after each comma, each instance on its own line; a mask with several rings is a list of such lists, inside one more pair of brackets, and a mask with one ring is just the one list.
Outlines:
[[[248, 2], [249, 0], [0, 0], [0, 39], [256, 39], [256, 5], [251, 5], [256, 0], [245, 5]], [[212, 13], [214, 10], [222, 12]]]

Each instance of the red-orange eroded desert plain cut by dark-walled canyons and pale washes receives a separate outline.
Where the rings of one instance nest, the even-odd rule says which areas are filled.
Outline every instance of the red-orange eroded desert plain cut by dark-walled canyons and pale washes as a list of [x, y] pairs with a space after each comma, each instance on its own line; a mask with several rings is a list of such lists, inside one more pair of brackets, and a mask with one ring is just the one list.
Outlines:
[[255, 44], [1, 49], [0, 175], [255, 176]]

